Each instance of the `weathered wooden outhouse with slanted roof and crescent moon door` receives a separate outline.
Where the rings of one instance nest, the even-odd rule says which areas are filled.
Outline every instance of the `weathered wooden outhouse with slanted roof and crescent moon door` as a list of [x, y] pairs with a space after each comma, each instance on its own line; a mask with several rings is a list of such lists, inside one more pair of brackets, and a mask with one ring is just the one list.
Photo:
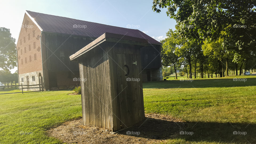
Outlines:
[[147, 45], [104, 33], [70, 56], [79, 63], [83, 125], [117, 131], [145, 119], [139, 49]]

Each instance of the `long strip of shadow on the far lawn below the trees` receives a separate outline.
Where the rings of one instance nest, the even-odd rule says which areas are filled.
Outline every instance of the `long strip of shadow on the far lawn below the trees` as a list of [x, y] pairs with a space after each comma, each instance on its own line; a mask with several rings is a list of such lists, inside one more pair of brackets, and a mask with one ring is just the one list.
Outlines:
[[[184, 79], [183, 79], [184, 80]], [[170, 81], [155, 81], [143, 83], [146, 89], [172, 89], [172, 88], [204, 88], [204, 87], [240, 87], [255, 86], [256, 78], [220, 78], [220, 79], [185, 79]]]

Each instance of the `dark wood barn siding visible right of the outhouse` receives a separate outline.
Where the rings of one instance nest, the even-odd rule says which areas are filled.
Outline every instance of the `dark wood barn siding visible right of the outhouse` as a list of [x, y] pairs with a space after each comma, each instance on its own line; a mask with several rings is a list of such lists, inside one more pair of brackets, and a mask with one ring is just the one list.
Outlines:
[[[151, 45], [141, 48], [142, 69], [161, 67], [161, 45]], [[147, 58], [146, 58], [147, 55]]]

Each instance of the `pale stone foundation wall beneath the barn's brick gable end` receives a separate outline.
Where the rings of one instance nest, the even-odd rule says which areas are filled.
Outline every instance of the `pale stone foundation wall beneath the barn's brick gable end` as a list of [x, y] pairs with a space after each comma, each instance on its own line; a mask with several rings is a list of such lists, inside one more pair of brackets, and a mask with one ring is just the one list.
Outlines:
[[[43, 74], [42, 71], [34, 71], [31, 73], [25, 73], [25, 74], [19, 74], [19, 85], [37, 85], [39, 84], [39, 73], [41, 73], [41, 75]], [[27, 76], [28, 76], [28, 80], [27, 80]], [[35, 77], [35, 81], [33, 81], [32, 76]], [[42, 75], [43, 77], [43, 75]], [[22, 78], [23, 78], [23, 82], [22, 82]], [[27, 83], [28, 81], [28, 83]], [[39, 86], [23, 86], [24, 87], [29, 87], [29, 89], [23, 89], [23, 91], [38, 91], [39, 88], [33, 88], [33, 87], [39, 87]], [[21, 86], [19, 87], [21, 89]]]

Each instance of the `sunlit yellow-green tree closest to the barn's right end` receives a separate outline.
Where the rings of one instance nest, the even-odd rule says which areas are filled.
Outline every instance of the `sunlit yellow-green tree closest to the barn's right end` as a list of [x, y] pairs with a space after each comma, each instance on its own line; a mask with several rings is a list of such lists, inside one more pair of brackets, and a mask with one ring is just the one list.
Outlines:
[[179, 67], [179, 57], [175, 54], [176, 49], [179, 47], [180, 39], [178, 38], [177, 32], [171, 29], [166, 33], [167, 38], [161, 41], [162, 50], [162, 65], [173, 66], [175, 72], [175, 79], [177, 78], [177, 67]]

